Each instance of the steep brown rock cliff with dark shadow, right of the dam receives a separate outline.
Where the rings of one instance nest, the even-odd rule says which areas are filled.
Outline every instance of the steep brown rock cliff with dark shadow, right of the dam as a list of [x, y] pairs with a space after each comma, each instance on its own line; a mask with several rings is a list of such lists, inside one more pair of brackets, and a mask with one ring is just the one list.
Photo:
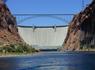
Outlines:
[[75, 15], [64, 41], [64, 51], [95, 48], [95, 0], [84, 11]]

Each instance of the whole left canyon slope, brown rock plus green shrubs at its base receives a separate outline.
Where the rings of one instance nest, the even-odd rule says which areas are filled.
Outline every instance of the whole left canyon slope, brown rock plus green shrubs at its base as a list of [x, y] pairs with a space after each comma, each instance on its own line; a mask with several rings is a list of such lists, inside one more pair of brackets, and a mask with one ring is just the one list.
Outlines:
[[18, 34], [16, 18], [0, 0], [0, 56], [33, 53], [37, 50], [26, 44]]

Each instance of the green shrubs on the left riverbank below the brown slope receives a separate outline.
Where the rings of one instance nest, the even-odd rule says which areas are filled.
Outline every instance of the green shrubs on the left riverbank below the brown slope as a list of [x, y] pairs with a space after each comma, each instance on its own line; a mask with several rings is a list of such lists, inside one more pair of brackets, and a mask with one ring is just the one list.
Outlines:
[[27, 44], [10, 44], [0, 47], [1, 54], [29, 54], [36, 50]]

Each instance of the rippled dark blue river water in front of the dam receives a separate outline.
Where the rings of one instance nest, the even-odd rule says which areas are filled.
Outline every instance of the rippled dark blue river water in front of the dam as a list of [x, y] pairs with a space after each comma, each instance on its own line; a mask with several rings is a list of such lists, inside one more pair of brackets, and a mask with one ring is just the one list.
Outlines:
[[95, 69], [95, 52], [44, 52], [33, 56], [0, 58], [0, 70], [93, 69]]

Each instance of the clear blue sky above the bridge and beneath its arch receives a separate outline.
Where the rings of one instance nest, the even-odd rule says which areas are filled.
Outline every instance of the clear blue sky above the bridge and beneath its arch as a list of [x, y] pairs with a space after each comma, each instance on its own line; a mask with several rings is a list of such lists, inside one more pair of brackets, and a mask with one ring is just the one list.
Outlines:
[[[84, 7], [91, 0], [84, 0]], [[82, 10], [82, 0], [8, 0], [6, 2], [12, 14], [76, 14]], [[30, 17], [30, 16], [28, 16]], [[17, 17], [19, 25], [66, 25], [72, 16], [56, 16], [64, 20], [52, 17], [37, 17], [20, 22], [26, 17]]]

